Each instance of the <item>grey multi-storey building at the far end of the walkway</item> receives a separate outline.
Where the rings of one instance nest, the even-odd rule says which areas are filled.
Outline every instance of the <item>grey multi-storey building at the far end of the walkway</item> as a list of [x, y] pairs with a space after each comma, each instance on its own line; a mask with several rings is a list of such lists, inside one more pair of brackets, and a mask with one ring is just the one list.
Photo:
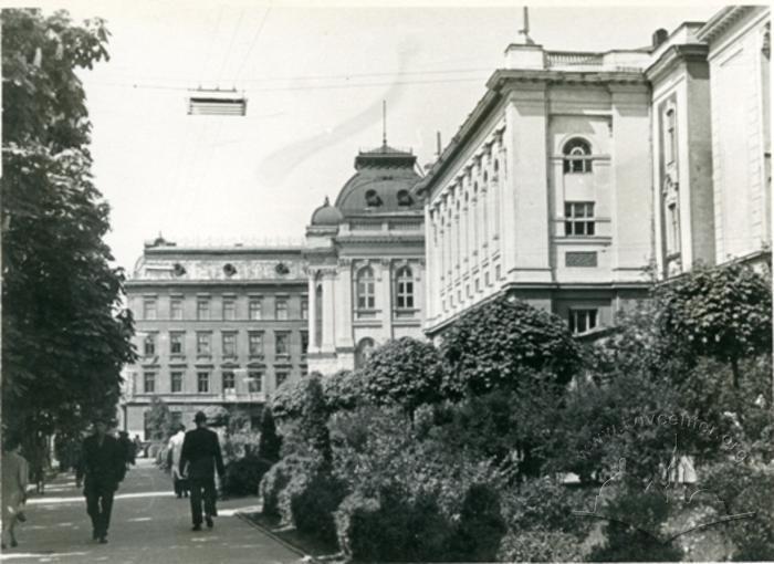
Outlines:
[[149, 438], [153, 398], [186, 425], [207, 406], [258, 416], [306, 374], [306, 288], [300, 247], [146, 244], [126, 282], [139, 359], [124, 372], [122, 428]]

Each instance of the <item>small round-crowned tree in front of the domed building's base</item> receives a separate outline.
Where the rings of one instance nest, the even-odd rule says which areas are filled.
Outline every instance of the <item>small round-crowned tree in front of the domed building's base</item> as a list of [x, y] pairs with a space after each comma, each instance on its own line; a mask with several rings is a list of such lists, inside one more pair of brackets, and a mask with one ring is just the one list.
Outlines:
[[411, 337], [389, 341], [366, 363], [363, 385], [374, 404], [396, 403], [414, 418], [417, 407], [441, 399], [438, 351]]

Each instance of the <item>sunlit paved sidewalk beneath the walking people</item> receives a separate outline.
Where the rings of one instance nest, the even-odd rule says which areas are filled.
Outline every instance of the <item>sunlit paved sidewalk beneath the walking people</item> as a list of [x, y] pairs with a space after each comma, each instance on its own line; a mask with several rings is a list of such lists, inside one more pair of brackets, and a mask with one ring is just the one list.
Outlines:
[[215, 529], [190, 530], [190, 505], [171, 492], [168, 474], [139, 459], [116, 492], [108, 544], [91, 540], [92, 525], [73, 474], [60, 474], [44, 495], [28, 501], [17, 525], [19, 546], [0, 561], [109, 564], [292, 563], [301, 555], [237, 516], [254, 511], [255, 498], [218, 502]]

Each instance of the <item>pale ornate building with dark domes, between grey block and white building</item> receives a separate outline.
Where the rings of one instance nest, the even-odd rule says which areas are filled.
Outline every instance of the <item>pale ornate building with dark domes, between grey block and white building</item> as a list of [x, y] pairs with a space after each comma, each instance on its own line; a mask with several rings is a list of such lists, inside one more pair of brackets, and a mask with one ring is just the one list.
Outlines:
[[422, 338], [425, 232], [416, 157], [387, 144], [360, 152], [355, 175], [306, 228], [310, 372], [363, 364], [391, 338]]

